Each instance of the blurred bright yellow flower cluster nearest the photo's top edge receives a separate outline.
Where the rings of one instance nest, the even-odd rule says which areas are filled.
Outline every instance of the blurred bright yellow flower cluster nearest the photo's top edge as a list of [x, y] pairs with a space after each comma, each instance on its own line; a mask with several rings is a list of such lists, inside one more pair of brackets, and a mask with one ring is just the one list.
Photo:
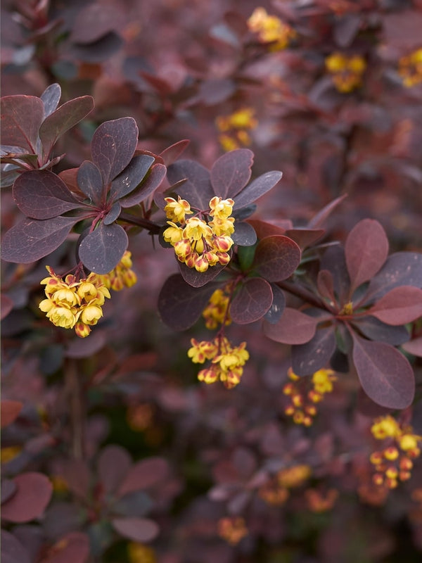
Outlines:
[[255, 8], [248, 19], [248, 28], [252, 33], [257, 33], [260, 43], [269, 43], [269, 51], [286, 49], [296, 32], [290, 25], [283, 23], [276, 15], [269, 15], [262, 8]]

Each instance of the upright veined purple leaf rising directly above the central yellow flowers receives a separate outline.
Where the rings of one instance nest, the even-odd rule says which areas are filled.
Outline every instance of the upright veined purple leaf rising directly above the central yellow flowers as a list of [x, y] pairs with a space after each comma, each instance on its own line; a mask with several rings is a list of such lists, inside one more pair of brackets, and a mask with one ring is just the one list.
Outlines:
[[249, 148], [238, 148], [220, 156], [210, 172], [215, 195], [223, 199], [237, 196], [250, 180], [252, 164], [253, 153]]

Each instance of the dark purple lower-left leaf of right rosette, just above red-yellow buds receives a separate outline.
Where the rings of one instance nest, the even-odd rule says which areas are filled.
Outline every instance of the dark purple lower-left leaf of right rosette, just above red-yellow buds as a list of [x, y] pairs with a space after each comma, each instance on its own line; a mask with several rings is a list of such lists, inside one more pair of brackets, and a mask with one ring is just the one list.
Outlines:
[[318, 329], [309, 342], [292, 347], [293, 372], [300, 376], [317, 372], [328, 364], [334, 350], [335, 328]]

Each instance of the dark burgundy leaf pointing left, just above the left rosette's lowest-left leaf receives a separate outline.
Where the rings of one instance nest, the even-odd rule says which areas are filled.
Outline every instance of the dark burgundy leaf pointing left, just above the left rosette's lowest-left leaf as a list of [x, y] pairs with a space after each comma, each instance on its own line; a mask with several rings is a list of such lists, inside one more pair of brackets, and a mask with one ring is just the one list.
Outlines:
[[32, 219], [52, 219], [81, 206], [66, 184], [49, 170], [29, 170], [13, 184], [13, 199]]

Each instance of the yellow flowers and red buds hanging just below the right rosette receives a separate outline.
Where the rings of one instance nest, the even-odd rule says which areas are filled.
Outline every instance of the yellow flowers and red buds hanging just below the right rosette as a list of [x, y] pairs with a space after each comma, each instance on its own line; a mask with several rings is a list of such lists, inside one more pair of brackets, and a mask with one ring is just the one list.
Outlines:
[[307, 380], [300, 379], [291, 367], [287, 374], [290, 381], [283, 386], [283, 393], [290, 397], [290, 404], [284, 412], [295, 424], [311, 426], [317, 412], [316, 403], [323, 400], [325, 393], [333, 391], [333, 381], [337, 378], [332, 369], [319, 369], [312, 375], [312, 389], [306, 391]]

